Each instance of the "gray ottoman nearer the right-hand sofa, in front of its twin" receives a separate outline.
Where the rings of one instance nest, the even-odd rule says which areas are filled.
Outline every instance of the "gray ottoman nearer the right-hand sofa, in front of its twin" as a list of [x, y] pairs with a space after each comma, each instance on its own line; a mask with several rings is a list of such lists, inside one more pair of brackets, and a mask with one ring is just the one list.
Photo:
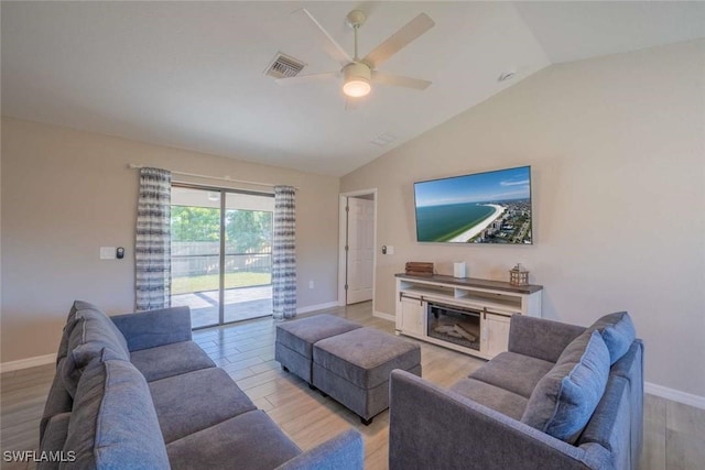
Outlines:
[[359, 328], [313, 347], [313, 385], [355, 412], [365, 425], [389, 407], [392, 369], [421, 376], [419, 345]]

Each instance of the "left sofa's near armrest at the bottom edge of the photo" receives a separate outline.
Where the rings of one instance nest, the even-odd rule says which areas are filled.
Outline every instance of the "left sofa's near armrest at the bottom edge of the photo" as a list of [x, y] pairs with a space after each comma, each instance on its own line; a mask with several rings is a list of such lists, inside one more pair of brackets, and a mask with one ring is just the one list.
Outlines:
[[362, 435], [357, 429], [348, 429], [282, 463], [276, 470], [362, 470], [364, 467]]

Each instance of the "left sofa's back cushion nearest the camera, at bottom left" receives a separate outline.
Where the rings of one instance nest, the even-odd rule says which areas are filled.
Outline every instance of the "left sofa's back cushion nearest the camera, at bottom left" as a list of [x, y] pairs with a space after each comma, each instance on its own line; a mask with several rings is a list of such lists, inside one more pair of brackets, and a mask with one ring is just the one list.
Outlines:
[[74, 469], [167, 469], [169, 458], [147, 382], [127, 361], [95, 360], [74, 400], [64, 451]]

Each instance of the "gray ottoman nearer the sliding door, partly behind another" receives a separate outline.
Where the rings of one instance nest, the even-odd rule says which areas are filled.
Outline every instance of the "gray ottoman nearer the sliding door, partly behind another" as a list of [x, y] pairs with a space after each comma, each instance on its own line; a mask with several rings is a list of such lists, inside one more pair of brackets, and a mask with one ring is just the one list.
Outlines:
[[310, 384], [313, 345], [335, 335], [362, 328], [358, 324], [334, 315], [316, 315], [276, 325], [274, 359], [285, 371], [292, 372]]

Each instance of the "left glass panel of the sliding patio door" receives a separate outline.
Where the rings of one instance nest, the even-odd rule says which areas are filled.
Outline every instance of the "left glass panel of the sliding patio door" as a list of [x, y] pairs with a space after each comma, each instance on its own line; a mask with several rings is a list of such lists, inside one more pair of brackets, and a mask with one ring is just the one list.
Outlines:
[[172, 187], [172, 306], [193, 328], [220, 324], [220, 193]]

